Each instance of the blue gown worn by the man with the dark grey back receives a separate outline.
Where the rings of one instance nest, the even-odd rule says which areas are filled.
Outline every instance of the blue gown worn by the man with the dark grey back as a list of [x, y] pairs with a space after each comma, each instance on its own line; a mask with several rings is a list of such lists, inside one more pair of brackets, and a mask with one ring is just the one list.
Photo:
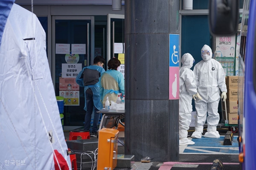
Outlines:
[[[89, 86], [84, 86], [84, 76], [82, 75], [85, 69], [92, 69], [92, 70], [97, 70], [101, 73], [104, 73], [105, 70], [96, 65], [84, 67], [82, 71], [79, 72], [79, 74], [76, 77], [76, 83], [79, 84], [79, 86], [84, 87], [84, 96], [85, 92], [87, 89], [91, 88], [91, 91], [93, 92], [93, 104], [94, 106], [98, 109], [101, 110], [103, 108], [102, 102], [101, 102], [101, 89], [100, 89], [100, 81], [96, 84], [89, 85]], [[85, 104], [84, 104], [84, 110], [87, 111], [87, 106], [86, 106], [86, 97], [85, 97]]]

